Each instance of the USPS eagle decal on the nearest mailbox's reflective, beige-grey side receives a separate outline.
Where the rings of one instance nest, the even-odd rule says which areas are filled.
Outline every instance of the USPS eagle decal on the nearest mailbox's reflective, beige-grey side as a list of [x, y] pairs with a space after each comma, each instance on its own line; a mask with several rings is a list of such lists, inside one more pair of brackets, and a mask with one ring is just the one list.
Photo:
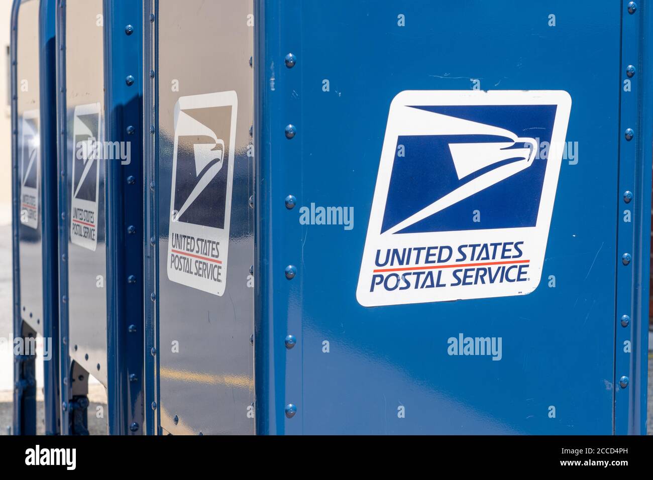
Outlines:
[[237, 112], [235, 91], [180, 97], [174, 108], [168, 279], [212, 295], [227, 281]]

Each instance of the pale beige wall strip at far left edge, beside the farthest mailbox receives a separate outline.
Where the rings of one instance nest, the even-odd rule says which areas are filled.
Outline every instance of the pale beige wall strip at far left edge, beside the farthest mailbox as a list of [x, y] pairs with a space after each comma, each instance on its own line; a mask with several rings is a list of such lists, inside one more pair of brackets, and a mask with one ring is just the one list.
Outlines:
[[0, 0], [0, 225], [11, 223], [11, 109], [9, 29], [11, 0]]

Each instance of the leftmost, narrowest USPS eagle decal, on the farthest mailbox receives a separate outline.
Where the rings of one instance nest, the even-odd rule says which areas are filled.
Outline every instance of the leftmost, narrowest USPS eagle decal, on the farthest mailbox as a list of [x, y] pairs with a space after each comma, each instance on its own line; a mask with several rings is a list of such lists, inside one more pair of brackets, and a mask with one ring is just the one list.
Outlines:
[[20, 142], [20, 223], [39, 228], [40, 137], [39, 110], [22, 116]]

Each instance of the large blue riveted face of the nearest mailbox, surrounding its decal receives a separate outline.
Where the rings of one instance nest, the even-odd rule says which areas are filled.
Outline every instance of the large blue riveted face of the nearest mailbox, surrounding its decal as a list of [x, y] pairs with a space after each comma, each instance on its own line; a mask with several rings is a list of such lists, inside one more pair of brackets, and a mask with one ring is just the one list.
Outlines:
[[[256, 3], [257, 432], [645, 430], [651, 142], [641, 119], [650, 99], [637, 78], [623, 91], [625, 67], [649, 48], [637, 25], [648, 27], [650, 7], [639, 4], [631, 14], [627, 2]], [[571, 97], [539, 285], [528, 295], [362, 306], [358, 268], [392, 99], [474, 89]], [[635, 194], [628, 224], [624, 189]], [[353, 228], [300, 221], [311, 204], [353, 207]], [[626, 357], [622, 312], [635, 346]], [[501, 359], [449, 355], [460, 334], [501, 338]]]

